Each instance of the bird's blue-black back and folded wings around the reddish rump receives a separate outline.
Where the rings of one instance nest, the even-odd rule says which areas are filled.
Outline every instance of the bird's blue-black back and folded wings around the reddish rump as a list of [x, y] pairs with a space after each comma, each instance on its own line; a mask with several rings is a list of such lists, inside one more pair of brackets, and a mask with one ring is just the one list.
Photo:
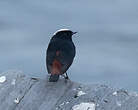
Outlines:
[[[59, 52], [59, 55], [57, 55]], [[48, 49], [47, 49], [47, 69], [48, 72], [51, 72], [52, 62], [56, 59], [62, 65], [61, 74], [67, 71], [70, 65], [73, 62], [75, 57], [76, 50], [72, 39], [62, 39], [60, 37], [53, 37], [50, 40]]]

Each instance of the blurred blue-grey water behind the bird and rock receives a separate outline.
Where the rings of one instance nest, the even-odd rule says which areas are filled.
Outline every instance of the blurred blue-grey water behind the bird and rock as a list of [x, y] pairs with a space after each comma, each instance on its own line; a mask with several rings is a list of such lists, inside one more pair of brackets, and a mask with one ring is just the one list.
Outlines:
[[60, 28], [78, 31], [71, 80], [138, 90], [138, 0], [0, 0], [0, 72], [45, 76]]

